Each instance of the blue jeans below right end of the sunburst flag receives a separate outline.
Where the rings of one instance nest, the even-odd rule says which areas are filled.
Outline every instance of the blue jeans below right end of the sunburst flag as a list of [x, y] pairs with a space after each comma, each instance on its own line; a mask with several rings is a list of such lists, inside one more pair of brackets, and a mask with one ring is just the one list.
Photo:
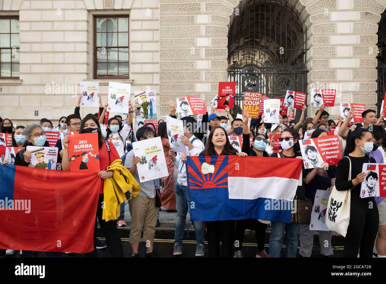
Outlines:
[[286, 231], [286, 257], [296, 257], [298, 251], [298, 240], [300, 224], [284, 222], [271, 222], [272, 231], [269, 238], [269, 256], [280, 257], [283, 246], [284, 230]]

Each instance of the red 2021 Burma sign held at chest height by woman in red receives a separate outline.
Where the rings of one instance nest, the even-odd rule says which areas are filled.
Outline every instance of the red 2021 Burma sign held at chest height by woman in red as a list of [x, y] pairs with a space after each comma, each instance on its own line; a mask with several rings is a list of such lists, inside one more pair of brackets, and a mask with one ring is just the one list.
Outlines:
[[100, 172], [98, 133], [74, 134], [68, 140], [70, 170]]

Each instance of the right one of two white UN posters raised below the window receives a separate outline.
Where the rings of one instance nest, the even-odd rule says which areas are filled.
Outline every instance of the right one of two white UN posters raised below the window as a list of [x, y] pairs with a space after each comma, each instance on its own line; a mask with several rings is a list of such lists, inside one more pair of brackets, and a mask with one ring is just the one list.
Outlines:
[[107, 111], [128, 113], [130, 88], [131, 84], [109, 82]]

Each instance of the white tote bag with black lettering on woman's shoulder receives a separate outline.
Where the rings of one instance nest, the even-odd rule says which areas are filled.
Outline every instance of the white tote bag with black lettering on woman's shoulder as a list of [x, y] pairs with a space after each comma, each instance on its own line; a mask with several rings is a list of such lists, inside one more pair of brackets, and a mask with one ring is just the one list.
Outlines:
[[[349, 180], [351, 180], [351, 160], [348, 156], [345, 158], [350, 161]], [[328, 198], [326, 225], [330, 231], [337, 232], [344, 237], [350, 223], [350, 203], [351, 189], [338, 191], [334, 185]]]

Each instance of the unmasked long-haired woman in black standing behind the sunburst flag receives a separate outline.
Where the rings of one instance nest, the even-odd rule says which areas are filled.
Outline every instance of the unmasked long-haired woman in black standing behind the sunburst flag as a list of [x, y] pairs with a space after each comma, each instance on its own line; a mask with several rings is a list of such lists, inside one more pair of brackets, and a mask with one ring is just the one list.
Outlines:
[[[248, 129], [249, 133], [249, 129]], [[247, 139], [249, 143], [249, 135]], [[204, 151], [199, 156], [225, 156], [238, 155], [247, 156], [230, 145], [228, 135], [221, 126], [213, 126], [209, 133]], [[186, 161], [184, 154], [181, 161]], [[220, 257], [220, 240], [222, 242], [222, 257], [233, 256], [233, 236], [235, 232], [235, 220], [207, 221], [209, 257]]]

